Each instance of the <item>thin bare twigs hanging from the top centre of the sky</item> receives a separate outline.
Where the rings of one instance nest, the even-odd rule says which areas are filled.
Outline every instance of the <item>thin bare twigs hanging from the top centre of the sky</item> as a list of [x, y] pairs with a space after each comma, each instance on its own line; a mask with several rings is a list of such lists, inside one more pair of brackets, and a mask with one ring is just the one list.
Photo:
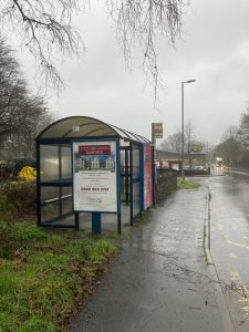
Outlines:
[[116, 22], [116, 37], [131, 66], [132, 49], [139, 45], [143, 51], [142, 68], [147, 80], [153, 83], [154, 97], [160, 77], [157, 61], [156, 40], [166, 38], [174, 46], [180, 35], [184, 0], [106, 0], [107, 9]]

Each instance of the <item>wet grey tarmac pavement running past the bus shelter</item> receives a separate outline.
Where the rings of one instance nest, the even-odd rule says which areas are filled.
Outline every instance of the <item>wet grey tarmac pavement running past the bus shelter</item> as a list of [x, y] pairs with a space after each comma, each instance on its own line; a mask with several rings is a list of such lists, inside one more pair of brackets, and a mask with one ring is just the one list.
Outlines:
[[[214, 266], [206, 263], [204, 251], [209, 185], [215, 203], [224, 179], [216, 185], [215, 177], [200, 178], [198, 190], [176, 191], [145, 214], [132, 228], [131, 238], [123, 240], [123, 250], [94, 295], [72, 320], [71, 331], [235, 331], [217, 279], [219, 273], [227, 277], [226, 271], [217, 274]], [[218, 208], [219, 203], [211, 207], [214, 218]], [[215, 246], [214, 250], [218, 262], [219, 250]]]

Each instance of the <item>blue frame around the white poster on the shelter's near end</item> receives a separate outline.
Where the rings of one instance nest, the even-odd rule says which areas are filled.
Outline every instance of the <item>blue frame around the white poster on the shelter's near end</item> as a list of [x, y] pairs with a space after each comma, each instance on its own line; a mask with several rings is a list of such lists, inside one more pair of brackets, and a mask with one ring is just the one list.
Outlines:
[[[82, 209], [74, 209], [74, 152], [73, 152], [73, 144], [74, 143], [105, 143], [105, 142], [114, 142], [116, 149], [116, 211], [103, 211], [103, 210], [82, 210]], [[120, 170], [120, 139], [118, 138], [96, 138], [96, 137], [87, 137], [87, 138], [80, 138], [80, 139], [72, 139], [71, 141], [71, 158], [72, 158], [72, 210], [74, 212], [90, 212], [90, 214], [113, 214], [120, 215], [121, 214], [121, 170]]]

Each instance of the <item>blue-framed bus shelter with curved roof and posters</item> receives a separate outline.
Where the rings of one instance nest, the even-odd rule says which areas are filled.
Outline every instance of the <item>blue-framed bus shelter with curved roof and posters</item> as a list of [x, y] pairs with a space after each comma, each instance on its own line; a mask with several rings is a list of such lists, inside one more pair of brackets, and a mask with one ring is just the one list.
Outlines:
[[42, 227], [80, 229], [91, 214], [92, 231], [102, 216], [115, 215], [122, 230], [154, 204], [154, 149], [137, 134], [87, 116], [59, 120], [37, 142], [37, 220]]

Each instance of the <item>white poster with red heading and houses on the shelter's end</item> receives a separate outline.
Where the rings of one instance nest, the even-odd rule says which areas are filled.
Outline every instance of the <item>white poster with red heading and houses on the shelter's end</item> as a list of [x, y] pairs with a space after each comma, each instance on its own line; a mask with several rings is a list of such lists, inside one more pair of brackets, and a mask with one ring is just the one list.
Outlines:
[[116, 142], [73, 143], [75, 211], [117, 212]]

